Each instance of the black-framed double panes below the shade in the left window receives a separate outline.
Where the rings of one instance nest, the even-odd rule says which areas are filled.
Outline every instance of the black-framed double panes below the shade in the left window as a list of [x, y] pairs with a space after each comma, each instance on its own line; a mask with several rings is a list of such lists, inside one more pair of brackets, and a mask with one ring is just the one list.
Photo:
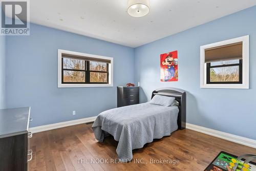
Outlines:
[[62, 84], [108, 84], [109, 63], [62, 57]]

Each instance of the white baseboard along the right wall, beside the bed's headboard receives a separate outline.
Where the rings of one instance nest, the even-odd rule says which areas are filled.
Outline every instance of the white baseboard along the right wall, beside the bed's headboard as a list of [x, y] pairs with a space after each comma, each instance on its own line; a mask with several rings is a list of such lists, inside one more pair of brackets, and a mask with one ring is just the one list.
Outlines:
[[202, 127], [191, 123], [186, 123], [186, 129], [256, 148], [256, 140], [253, 139], [208, 129], [207, 127]]

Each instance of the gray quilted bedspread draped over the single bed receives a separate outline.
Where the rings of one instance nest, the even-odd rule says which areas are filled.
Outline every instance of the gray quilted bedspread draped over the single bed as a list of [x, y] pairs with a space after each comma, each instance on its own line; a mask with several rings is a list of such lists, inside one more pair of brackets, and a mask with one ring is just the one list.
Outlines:
[[119, 160], [132, 160], [132, 150], [144, 144], [169, 136], [178, 129], [177, 106], [160, 106], [141, 103], [104, 111], [98, 115], [92, 129], [95, 138], [102, 142], [111, 134], [118, 142], [116, 153]]

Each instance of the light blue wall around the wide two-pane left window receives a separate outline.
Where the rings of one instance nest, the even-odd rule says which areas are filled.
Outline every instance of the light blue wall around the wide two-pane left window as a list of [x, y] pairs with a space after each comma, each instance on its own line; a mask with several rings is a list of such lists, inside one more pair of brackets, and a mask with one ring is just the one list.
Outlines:
[[[114, 87], [57, 88], [58, 49], [113, 57]], [[6, 55], [7, 107], [31, 106], [32, 127], [115, 108], [116, 86], [134, 82], [133, 48], [35, 24], [6, 38]]]

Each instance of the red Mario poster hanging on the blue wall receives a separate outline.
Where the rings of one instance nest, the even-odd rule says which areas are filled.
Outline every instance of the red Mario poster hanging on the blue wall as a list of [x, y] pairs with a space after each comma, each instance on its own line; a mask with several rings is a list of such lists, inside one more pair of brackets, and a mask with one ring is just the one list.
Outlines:
[[165, 81], [178, 81], [178, 51], [160, 55], [160, 79]]

